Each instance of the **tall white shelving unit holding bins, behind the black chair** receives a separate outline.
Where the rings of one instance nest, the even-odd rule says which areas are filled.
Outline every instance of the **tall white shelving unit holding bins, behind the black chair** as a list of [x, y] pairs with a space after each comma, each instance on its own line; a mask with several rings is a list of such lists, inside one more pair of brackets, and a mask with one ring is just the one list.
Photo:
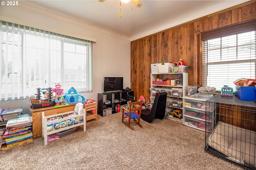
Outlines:
[[[168, 79], [178, 79], [179, 78], [179, 75], [182, 75], [182, 85], [180, 86], [172, 86], [172, 85], [157, 85], [157, 84], [153, 84], [153, 81], [155, 81], [157, 78], [161, 78], [163, 80], [168, 80]], [[168, 109], [172, 109], [172, 108], [175, 108], [175, 109], [183, 109], [182, 107], [182, 98], [183, 96], [187, 96], [188, 95], [188, 73], [186, 72], [180, 72], [180, 73], [151, 73], [151, 86], [150, 86], [150, 100], [151, 102], [154, 101], [154, 97], [155, 97], [155, 94], [157, 91], [154, 91], [155, 89], [158, 89], [158, 88], [161, 88], [161, 90], [159, 92], [164, 92], [168, 89], [172, 89], [172, 88], [182, 88], [182, 95], [180, 94], [177, 94], [176, 93], [174, 95], [171, 95], [170, 94], [170, 91], [168, 92], [168, 95], [167, 95], [167, 102], [169, 104], [169, 102], [171, 102], [172, 104], [168, 105], [166, 104], [166, 110]], [[175, 101], [175, 102], [172, 102], [172, 101]], [[181, 105], [180, 105], [181, 104]], [[178, 106], [176, 106], [178, 105]], [[152, 106], [152, 104], [151, 104]], [[183, 122], [182, 119], [179, 119], [179, 118], [176, 118], [176, 117], [173, 117], [172, 115], [169, 115], [169, 116], [165, 116], [167, 119], [172, 119], [172, 120], [175, 120], [175, 121], [179, 121], [179, 122]]]

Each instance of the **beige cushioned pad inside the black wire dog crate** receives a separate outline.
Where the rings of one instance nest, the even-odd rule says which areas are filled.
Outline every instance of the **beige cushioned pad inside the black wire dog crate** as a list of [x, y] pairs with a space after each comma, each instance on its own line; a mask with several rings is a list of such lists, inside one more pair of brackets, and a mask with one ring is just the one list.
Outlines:
[[255, 131], [218, 121], [208, 145], [232, 160], [256, 167]]

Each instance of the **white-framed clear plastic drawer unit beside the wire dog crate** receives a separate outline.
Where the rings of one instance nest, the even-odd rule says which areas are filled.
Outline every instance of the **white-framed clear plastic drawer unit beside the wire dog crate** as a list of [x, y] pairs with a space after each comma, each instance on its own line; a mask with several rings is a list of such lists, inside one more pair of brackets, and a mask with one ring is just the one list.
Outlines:
[[183, 97], [183, 125], [201, 130], [210, 131], [213, 127], [213, 115], [206, 108], [206, 100], [194, 97]]

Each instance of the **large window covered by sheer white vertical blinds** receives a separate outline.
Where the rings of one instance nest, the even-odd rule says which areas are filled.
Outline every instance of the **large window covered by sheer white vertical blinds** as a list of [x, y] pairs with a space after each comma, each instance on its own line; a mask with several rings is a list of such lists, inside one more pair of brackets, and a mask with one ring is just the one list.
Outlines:
[[28, 98], [36, 88], [92, 91], [92, 41], [0, 21], [0, 100]]

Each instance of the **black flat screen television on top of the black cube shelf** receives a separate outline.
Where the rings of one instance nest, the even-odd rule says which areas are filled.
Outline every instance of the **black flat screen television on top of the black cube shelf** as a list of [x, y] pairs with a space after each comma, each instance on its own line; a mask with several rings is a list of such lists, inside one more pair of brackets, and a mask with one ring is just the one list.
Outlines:
[[123, 77], [104, 77], [104, 92], [123, 89]]

